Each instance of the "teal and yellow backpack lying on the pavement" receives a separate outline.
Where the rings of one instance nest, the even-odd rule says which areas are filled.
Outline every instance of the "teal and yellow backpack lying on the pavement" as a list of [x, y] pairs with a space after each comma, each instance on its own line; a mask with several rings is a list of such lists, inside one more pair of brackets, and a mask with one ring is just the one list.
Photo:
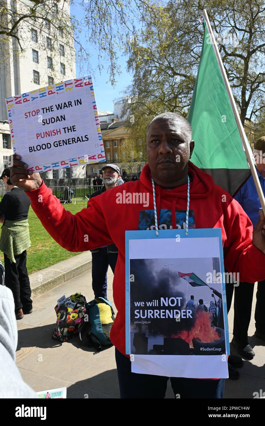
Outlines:
[[102, 346], [112, 344], [109, 338], [111, 326], [114, 322], [114, 311], [111, 302], [103, 299], [103, 297], [97, 297], [97, 299], [86, 303], [85, 309], [88, 321], [84, 322], [80, 330], [80, 342], [82, 344], [88, 343], [97, 352], [100, 352]]

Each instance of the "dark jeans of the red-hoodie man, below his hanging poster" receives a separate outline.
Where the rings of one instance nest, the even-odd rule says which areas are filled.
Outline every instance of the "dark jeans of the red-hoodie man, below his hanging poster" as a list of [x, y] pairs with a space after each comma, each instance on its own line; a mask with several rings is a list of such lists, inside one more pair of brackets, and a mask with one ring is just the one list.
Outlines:
[[[165, 398], [169, 377], [131, 372], [131, 361], [115, 348], [121, 398]], [[179, 398], [222, 399], [225, 379], [199, 380], [170, 377], [174, 395]]]

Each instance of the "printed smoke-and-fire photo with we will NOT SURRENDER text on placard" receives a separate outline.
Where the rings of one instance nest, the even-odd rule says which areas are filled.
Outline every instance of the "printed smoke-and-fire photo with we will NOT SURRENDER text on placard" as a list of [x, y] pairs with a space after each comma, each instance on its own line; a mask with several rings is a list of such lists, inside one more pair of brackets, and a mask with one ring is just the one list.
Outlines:
[[225, 353], [219, 259], [192, 260], [131, 259], [131, 354]]

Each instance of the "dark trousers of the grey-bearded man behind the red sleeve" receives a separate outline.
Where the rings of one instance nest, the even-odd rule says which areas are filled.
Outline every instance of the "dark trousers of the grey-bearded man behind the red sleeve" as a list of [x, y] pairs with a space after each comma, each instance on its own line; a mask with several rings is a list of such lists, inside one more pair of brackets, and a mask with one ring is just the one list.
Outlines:
[[118, 253], [108, 253], [107, 247], [101, 247], [98, 251], [92, 252], [92, 289], [95, 298], [107, 299], [108, 265], [114, 273], [117, 258]]

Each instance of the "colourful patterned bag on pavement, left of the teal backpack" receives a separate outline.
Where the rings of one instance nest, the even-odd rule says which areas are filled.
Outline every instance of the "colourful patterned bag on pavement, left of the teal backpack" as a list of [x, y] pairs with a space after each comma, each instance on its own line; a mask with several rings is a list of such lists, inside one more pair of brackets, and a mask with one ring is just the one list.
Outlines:
[[59, 299], [55, 306], [57, 321], [54, 325], [52, 338], [66, 342], [76, 336], [84, 323], [85, 316], [85, 296], [75, 293], [66, 299]]

